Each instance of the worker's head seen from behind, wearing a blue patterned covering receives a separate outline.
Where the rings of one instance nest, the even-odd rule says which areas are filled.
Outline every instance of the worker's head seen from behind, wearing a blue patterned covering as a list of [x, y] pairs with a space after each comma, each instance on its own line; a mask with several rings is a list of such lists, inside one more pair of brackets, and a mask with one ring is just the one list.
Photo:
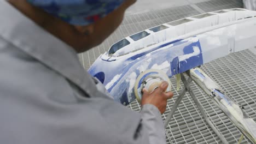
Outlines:
[[101, 44], [136, 0], [9, 0], [46, 31], [78, 52]]

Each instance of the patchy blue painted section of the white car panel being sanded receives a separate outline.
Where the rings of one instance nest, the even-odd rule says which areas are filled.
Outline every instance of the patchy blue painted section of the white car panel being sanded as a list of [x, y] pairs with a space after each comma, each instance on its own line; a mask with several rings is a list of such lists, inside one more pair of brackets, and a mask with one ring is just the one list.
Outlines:
[[[199, 55], [180, 62], [178, 57], [193, 53], [193, 46], [199, 47]], [[150, 57], [146, 56], [148, 53], [150, 53]], [[99, 57], [89, 69], [89, 73], [94, 76], [99, 72], [103, 72], [105, 75], [103, 84], [105, 86], [113, 80], [114, 76], [121, 75], [119, 80], [115, 81], [113, 86], [107, 90], [114, 100], [119, 101], [121, 104], [126, 103], [127, 105], [135, 99], [133, 90], [132, 92], [128, 92], [127, 90], [130, 86], [130, 81], [127, 81], [127, 77], [132, 73], [135, 73], [138, 77], [142, 72], [138, 70], [138, 67], [145, 65], [145, 62], [149, 59], [151, 59], [151, 62], [148, 64], [147, 69], [152, 69], [154, 64], [161, 65], [166, 61], [169, 62], [170, 65], [167, 66], [170, 67], [167, 71], [169, 77], [203, 64], [200, 41], [197, 40], [194, 42], [187, 39], [171, 41], [156, 46], [147, 52], [136, 53], [135, 55], [121, 58], [116, 61], [103, 61], [103, 59]]]

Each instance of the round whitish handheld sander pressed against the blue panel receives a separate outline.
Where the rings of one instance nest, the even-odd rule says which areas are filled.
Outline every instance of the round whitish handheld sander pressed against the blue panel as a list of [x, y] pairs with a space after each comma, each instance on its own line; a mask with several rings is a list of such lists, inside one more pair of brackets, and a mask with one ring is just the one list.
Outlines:
[[158, 88], [163, 81], [166, 81], [169, 84], [166, 91], [171, 91], [171, 81], [163, 71], [158, 69], [143, 71], [135, 81], [134, 93], [136, 99], [141, 102], [143, 88], [146, 88], [148, 92], [151, 93]]

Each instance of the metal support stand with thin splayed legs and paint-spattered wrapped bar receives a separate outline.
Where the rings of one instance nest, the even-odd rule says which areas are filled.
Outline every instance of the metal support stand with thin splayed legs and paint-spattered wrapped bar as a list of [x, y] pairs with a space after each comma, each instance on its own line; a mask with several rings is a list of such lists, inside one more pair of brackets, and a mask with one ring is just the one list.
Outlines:
[[[171, 118], [174, 115], [174, 112], [177, 110], [178, 105], [181, 103], [185, 93], [189, 92], [190, 96], [194, 100], [196, 106], [202, 113], [203, 118], [205, 119], [206, 123], [212, 128], [214, 133], [219, 137], [219, 139], [223, 143], [228, 143], [225, 137], [219, 133], [219, 131], [214, 127], [213, 123], [207, 117], [206, 113], [203, 111], [199, 100], [196, 98], [195, 94], [193, 93], [192, 89], [190, 88], [190, 84], [192, 81], [195, 81], [199, 87], [208, 94], [211, 99], [213, 100], [214, 104], [216, 104], [225, 114], [229, 117], [231, 122], [236, 125], [236, 127], [244, 134], [249, 141], [255, 143], [255, 128], [256, 123], [245, 115], [242, 109], [234, 109], [233, 107], [237, 108], [237, 104], [234, 103], [225, 93], [223, 90], [214, 82], [210, 77], [208, 77], [203, 71], [199, 68], [191, 69], [186, 71], [187, 75], [189, 76], [188, 79], [185, 79], [184, 74], [181, 74], [182, 82], [184, 83], [184, 88], [182, 89], [181, 93], [177, 100], [175, 101], [174, 105], [171, 108], [170, 113], [168, 113], [167, 118], [165, 120], [165, 128], [167, 127], [168, 123], [171, 121]], [[190, 74], [191, 73], [191, 74]], [[206, 82], [207, 81], [207, 82]], [[209, 83], [210, 82], [210, 83]], [[226, 104], [226, 105], [225, 105]], [[238, 106], [239, 107], [239, 106]], [[237, 117], [235, 114], [240, 114], [240, 117]], [[242, 113], [242, 114], [241, 114]], [[242, 120], [241, 120], [242, 119]], [[248, 125], [251, 124], [251, 127]]]

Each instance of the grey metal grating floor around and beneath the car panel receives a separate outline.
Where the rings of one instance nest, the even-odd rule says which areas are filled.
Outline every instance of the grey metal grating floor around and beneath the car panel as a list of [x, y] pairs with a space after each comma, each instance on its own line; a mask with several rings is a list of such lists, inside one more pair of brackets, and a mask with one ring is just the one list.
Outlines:
[[[126, 15], [123, 24], [103, 44], [94, 49], [80, 53], [79, 59], [88, 69], [101, 53], [107, 51], [113, 43], [121, 38], [144, 29], [170, 22], [183, 17], [220, 9], [242, 7], [240, 0], [211, 0], [174, 7]], [[247, 114], [256, 121], [256, 55], [249, 50], [232, 53], [203, 65], [202, 70], [212, 77], [225, 92], [237, 103], [245, 107]], [[162, 115], [165, 120], [170, 108], [177, 98], [176, 80], [171, 78], [174, 98], [168, 101], [167, 110]], [[194, 83], [191, 86], [200, 100], [207, 116], [229, 143], [237, 143], [241, 134], [222, 111], [211, 102], [210, 98]], [[139, 104], [133, 101], [129, 107], [139, 111]], [[218, 136], [206, 124], [193, 99], [186, 94], [166, 129], [167, 143], [221, 143]], [[241, 143], [249, 143], [243, 140]]]

